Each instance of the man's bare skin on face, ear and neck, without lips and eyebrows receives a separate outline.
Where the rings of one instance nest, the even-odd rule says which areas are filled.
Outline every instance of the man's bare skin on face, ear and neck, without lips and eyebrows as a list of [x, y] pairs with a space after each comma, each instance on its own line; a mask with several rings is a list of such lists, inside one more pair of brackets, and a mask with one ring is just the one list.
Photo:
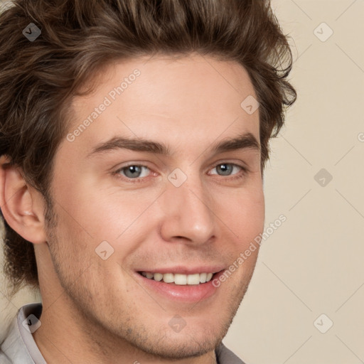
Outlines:
[[[242, 132], [259, 141], [259, 110], [250, 115], [240, 107], [255, 96], [246, 70], [199, 55], [146, 60], [110, 65], [95, 92], [74, 99], [70, 132], [119, 80], [141, 72], [74, 141], [61, 142], [51, 185], [54, 226], [21, 173], [1, 168], [4, 216], [36, 250], [43, 314], [33, 337], [48, 363], [216, 363], [215, 347], [252, 277], [258, 249], [197, 304], [171, 301], [134, 279], [140, 267], [228, 268], [264, 228], [259, 151], [210, 151]], [[164, 142], [171, 156], [118, 149], [87, 158], [114, 136]], [[132, 183], [138, 176], [128, 179], [127, 168], [112, 174], [129, 162], [148, 167], [143, 182]], [[234, 181], [241, 168], [224, 175], [224, 162], [249, 172]], [[168, 181], [175, 168], [187, 176], [178, 188]], [[107, 260], [95, 254], [104, 240], [114, 248]], [[186, 321], [178, 333], [168, 325], [176, 314]]]

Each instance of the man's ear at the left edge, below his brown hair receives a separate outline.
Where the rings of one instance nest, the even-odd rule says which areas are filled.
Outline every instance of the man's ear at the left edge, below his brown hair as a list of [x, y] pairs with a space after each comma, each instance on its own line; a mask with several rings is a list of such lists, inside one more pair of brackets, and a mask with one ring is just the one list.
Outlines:
[[7, 156], [0, 157], [0, 208], [6, 223], [33, 244], [46, 242], [43, 196], [28, 186], [9, 161]]

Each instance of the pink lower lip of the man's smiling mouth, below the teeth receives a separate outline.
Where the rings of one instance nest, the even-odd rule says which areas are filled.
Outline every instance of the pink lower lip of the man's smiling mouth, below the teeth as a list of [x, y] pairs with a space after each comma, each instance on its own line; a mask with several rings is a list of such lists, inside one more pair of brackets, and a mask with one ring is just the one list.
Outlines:
[[156, 291], [157, 294], [161, 294], [167, 299], [178, 302], [194, 303], [202, 301], [203, 299], [208, 299], [210, 296], [215, 294], [218, 287], [213, 285], [213, 280], [218, 279], [224, 272], [225, 269], [214, 274], [213, 278], [209, 282], [201, 284], [186, 284], [183, 286], [174, 283], [166, 283], [163, 282], [163, 280], [157, 282], [154, 279], [142, 276], [138, 272], [135, 272], [135, 274], [137, 274], [139, 280], [141, 280], [144, 286]]

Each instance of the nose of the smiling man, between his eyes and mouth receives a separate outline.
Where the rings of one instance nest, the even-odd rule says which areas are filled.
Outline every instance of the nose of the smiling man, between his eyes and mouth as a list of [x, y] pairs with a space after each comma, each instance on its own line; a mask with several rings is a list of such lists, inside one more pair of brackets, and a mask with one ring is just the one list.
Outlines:
[[164, 240], [185, 240], [194, 245], [210, 241], [217, 228], [213, 198], [200, 178], [188, 177], [179, 187], [167, 183], [166, 192], [161, 198], [161, 209], [164, 211], [161, 235]]

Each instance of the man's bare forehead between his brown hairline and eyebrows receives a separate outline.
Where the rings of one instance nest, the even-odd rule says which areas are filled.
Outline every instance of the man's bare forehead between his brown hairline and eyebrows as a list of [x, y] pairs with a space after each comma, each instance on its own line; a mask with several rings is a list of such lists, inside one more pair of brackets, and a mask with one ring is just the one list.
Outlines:
[[255, 90], [238, 63], [200, 55], [134, 58], [109, 65], [95, 81], [92, 94], [73, 100], [69, 132], [80, 129], [74, 146], [117, 135], [176, 145], [242, 132], [259, 140], [259, 110], [248, 114], [241, 106]]

